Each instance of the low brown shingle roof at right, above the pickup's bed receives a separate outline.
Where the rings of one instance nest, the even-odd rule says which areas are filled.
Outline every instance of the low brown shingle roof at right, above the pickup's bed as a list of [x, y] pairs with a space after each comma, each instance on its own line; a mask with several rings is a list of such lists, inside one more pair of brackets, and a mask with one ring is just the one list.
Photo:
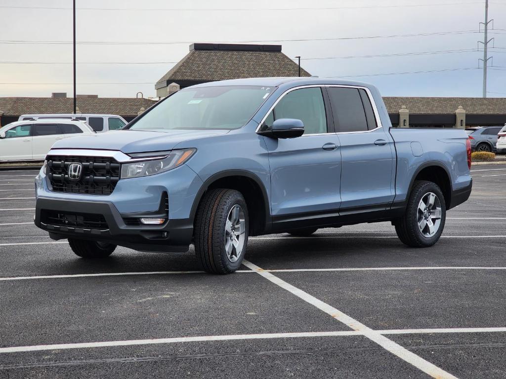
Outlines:
[[506, 114], [506, 98], [383, 98], [388, 113], [403, 105], [410, 114], [454, 114], [459, 106], [466, 114]]

